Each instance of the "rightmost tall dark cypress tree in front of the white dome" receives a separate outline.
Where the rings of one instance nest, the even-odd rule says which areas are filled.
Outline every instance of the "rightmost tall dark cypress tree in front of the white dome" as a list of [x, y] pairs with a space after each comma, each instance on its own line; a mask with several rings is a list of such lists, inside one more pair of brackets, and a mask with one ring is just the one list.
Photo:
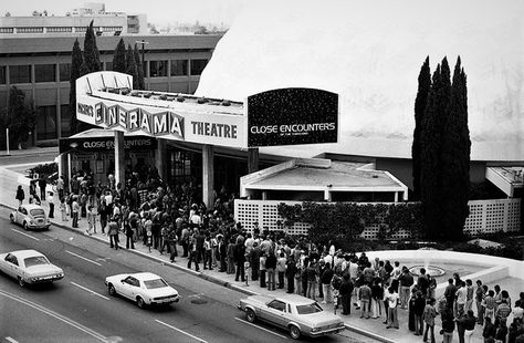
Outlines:
[[460, 56], [453, 72], [449, 115], [442, 135], [442, 229], [447, 237], [462, 237], [469, 215], [470, 198], [470, 133], [465, 74], [461, 70]]

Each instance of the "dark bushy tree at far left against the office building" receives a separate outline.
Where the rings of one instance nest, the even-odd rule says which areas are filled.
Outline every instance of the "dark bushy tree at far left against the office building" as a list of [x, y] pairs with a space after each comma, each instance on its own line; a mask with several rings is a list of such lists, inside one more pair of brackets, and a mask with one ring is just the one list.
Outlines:
[[9, 90], [9, 106], [3, 118], [9, 127], [10, 142], [21, 148], [21, 144], [29, 139], [29, 133], [34, 131], [36, 113], [32, 104], [25, 102], [25, 93], [15, 86]]

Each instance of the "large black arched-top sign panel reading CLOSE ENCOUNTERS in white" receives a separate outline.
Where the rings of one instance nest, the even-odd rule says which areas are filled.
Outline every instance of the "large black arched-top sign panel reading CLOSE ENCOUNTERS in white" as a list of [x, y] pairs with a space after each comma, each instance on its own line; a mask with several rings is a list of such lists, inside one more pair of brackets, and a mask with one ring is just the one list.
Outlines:
[[336, 143], [338, 95], [281, 89], [248, 97], [248, 146]]

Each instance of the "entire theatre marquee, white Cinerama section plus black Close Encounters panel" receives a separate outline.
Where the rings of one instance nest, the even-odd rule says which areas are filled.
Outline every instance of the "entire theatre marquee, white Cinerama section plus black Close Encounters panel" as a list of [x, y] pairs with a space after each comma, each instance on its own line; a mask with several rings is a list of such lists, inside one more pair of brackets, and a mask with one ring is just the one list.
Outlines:
[[338, 95], [282, 89], [244, 102], [133, 90], [133, 77], [96, 72], [76, 80], [76, 117], [113, 131], [237, 148], [334, 143]]

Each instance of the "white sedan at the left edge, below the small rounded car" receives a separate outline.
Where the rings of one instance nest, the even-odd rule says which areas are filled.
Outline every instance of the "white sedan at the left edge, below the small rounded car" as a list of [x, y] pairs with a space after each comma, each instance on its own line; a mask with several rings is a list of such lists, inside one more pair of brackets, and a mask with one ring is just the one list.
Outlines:
[[64, 278], [64, 271], [36, 250], [0, 253], [0, 270], [18, 280], [20, 287], [46, 283]]

